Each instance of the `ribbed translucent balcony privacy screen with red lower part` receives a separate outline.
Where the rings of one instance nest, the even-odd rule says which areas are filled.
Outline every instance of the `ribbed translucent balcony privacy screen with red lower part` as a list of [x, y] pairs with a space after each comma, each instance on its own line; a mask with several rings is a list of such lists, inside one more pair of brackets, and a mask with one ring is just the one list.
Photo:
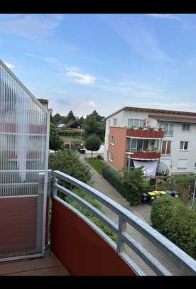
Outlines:
[[42, 250], [47, 115], [0, 61], [0, 258]]

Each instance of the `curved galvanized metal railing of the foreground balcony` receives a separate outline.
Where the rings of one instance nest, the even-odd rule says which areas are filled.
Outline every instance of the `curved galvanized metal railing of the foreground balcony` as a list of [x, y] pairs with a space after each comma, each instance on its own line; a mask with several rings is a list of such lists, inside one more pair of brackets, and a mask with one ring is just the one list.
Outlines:
[[[131, 239], [129, 234], [127, 234], [125, 231], [127, 223], [130, 224], [132, 227], [134, 227], [136, 231], [138, 231], [147, 239], [149, 239], [153, 244], [155, 244], [158, 247], [158, 249], [160, 249], [165, 253], [166, 256], [170, 257], [170, 259], [172, 259], [175, 263], [177, 263], [178, 266], [183, 268], [183, 270], [185, 270], [187, 274], [196, 276], [196, 261], [193, 258], [188, 256], [187, 253], [178, 248], [178, 246], [175, 246], [175, 244], [173, 244], [163, 235], [158, 233], [158, 231], [156, 231], [151, 226], [146, 224], [146, 222], [143, 222], [140, 218], [136, 217], [135, 214], [129, 212], [128, 209], [125, 209], [117, 202], [114, 202], [114, 200], [111, 200], [109, 197], [102, 194], [102, 192], [99, 192], [93, 187], [85, 184], [84, 182], [81, 182], [80, 180], [71, 177], [70, 175], [55, 170], [53, 171], [53, 177], [55, 179], [55, 181], [53, 182], [53, 197], [56, 200], [60, 200], [60, 202], [62, 202], [65, 206], [67, 206], [67, 203], [63, 202], [57, 196], [57, 191], [60, 191], [63, 194], [71, 197], [72, 200], [75, 200], [83, 207], [89, 209], [90, 212], [93, 212], [99, 219], [101, 219], [102, 222], [104, 222], [104, 224], [106, 224], [112, 231], [114, 231], [114, 233], [117, 234], [116, 252], [119, 253], [119, 255], [121, 255], [123, 258], [126, 258], [126, 261], [129, 258], [128, 256], [126, 256], [126, 253], [124, 252], [125, 244], [127, 244], [131, 250], [136, 252], [137, 255], [141, 259], [143, 259], [143, 261], [145, 261], [146, 264], [158, 275], [163, 276], [172, 275], [154, 256], [151, 255], [151, 253], [149, 253], [146, 249], [144, 249], [143, 246], [138, 244], [134, 239]], [[62, 187], [61, 185], [58, 185], [56, 178], [69, 182], [71, 185], [75, 185], [75, 187], [84, 190], [89, 195], [91, 195], [99, 202], [101, 202], [103, 205], [105, 205], [113, 212], [115, 212], [119, 216], [118, 226], [116, 226], [116, 224], [111, 219], [109, 219], [109, 217], [102, 214], [102, 212], [99, 212], [99, 210], [90, 205], [87, 201], [83, 200], [77, 194], [71, 192], [70, 190], [67, 190], [65, 187]], [[134, 264], [133, 261], [131, 261], [132, 268], [134, 266], [133, 264]], [[136, 266], [134, 270], [136, 271]], [[143, 273], [142, 275], [145, 274]]]

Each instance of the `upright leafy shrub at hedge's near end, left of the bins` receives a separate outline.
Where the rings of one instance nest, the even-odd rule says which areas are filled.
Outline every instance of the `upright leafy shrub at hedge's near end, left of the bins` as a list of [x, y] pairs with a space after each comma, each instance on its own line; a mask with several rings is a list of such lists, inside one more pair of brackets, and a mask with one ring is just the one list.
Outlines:
[[129, 200], [131, 206], [141, 204], [141, 196], [148, 182], [143, 178], [141, 168], [124, 171], [124, 189], [126, 190], [126, 200]]

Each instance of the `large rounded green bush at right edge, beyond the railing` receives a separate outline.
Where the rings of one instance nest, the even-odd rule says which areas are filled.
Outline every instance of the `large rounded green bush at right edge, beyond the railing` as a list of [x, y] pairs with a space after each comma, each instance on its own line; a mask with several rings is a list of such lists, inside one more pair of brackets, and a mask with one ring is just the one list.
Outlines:
[[165, 195], [154, 200], [151, 210], [153, 228], [180, 249], [196, 258], [196, 212], [180, 199]]

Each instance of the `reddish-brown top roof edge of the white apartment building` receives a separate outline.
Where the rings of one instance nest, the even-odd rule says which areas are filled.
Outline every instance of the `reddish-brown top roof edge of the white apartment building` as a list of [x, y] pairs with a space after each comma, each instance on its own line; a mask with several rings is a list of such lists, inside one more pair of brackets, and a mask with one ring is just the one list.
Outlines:
[[196, 112], [190, 112], [190, 111], [176, 111], [176, 110], [168, 110], [168, 109], [148, 109], [144, 107], [122, 107], [121, 109], [115, 111], [113, 114], [109, 114], [109, 116], [105, 117], [103, 120], [109, 119], [109, 117], [114, 116], [115, 114], [124, 110], [125, 111], [145, 111], [145, 112], [151, 112], [151, 113], [156, 113], [156, 114], [175, 114], [175, 115], [196, 117]]

